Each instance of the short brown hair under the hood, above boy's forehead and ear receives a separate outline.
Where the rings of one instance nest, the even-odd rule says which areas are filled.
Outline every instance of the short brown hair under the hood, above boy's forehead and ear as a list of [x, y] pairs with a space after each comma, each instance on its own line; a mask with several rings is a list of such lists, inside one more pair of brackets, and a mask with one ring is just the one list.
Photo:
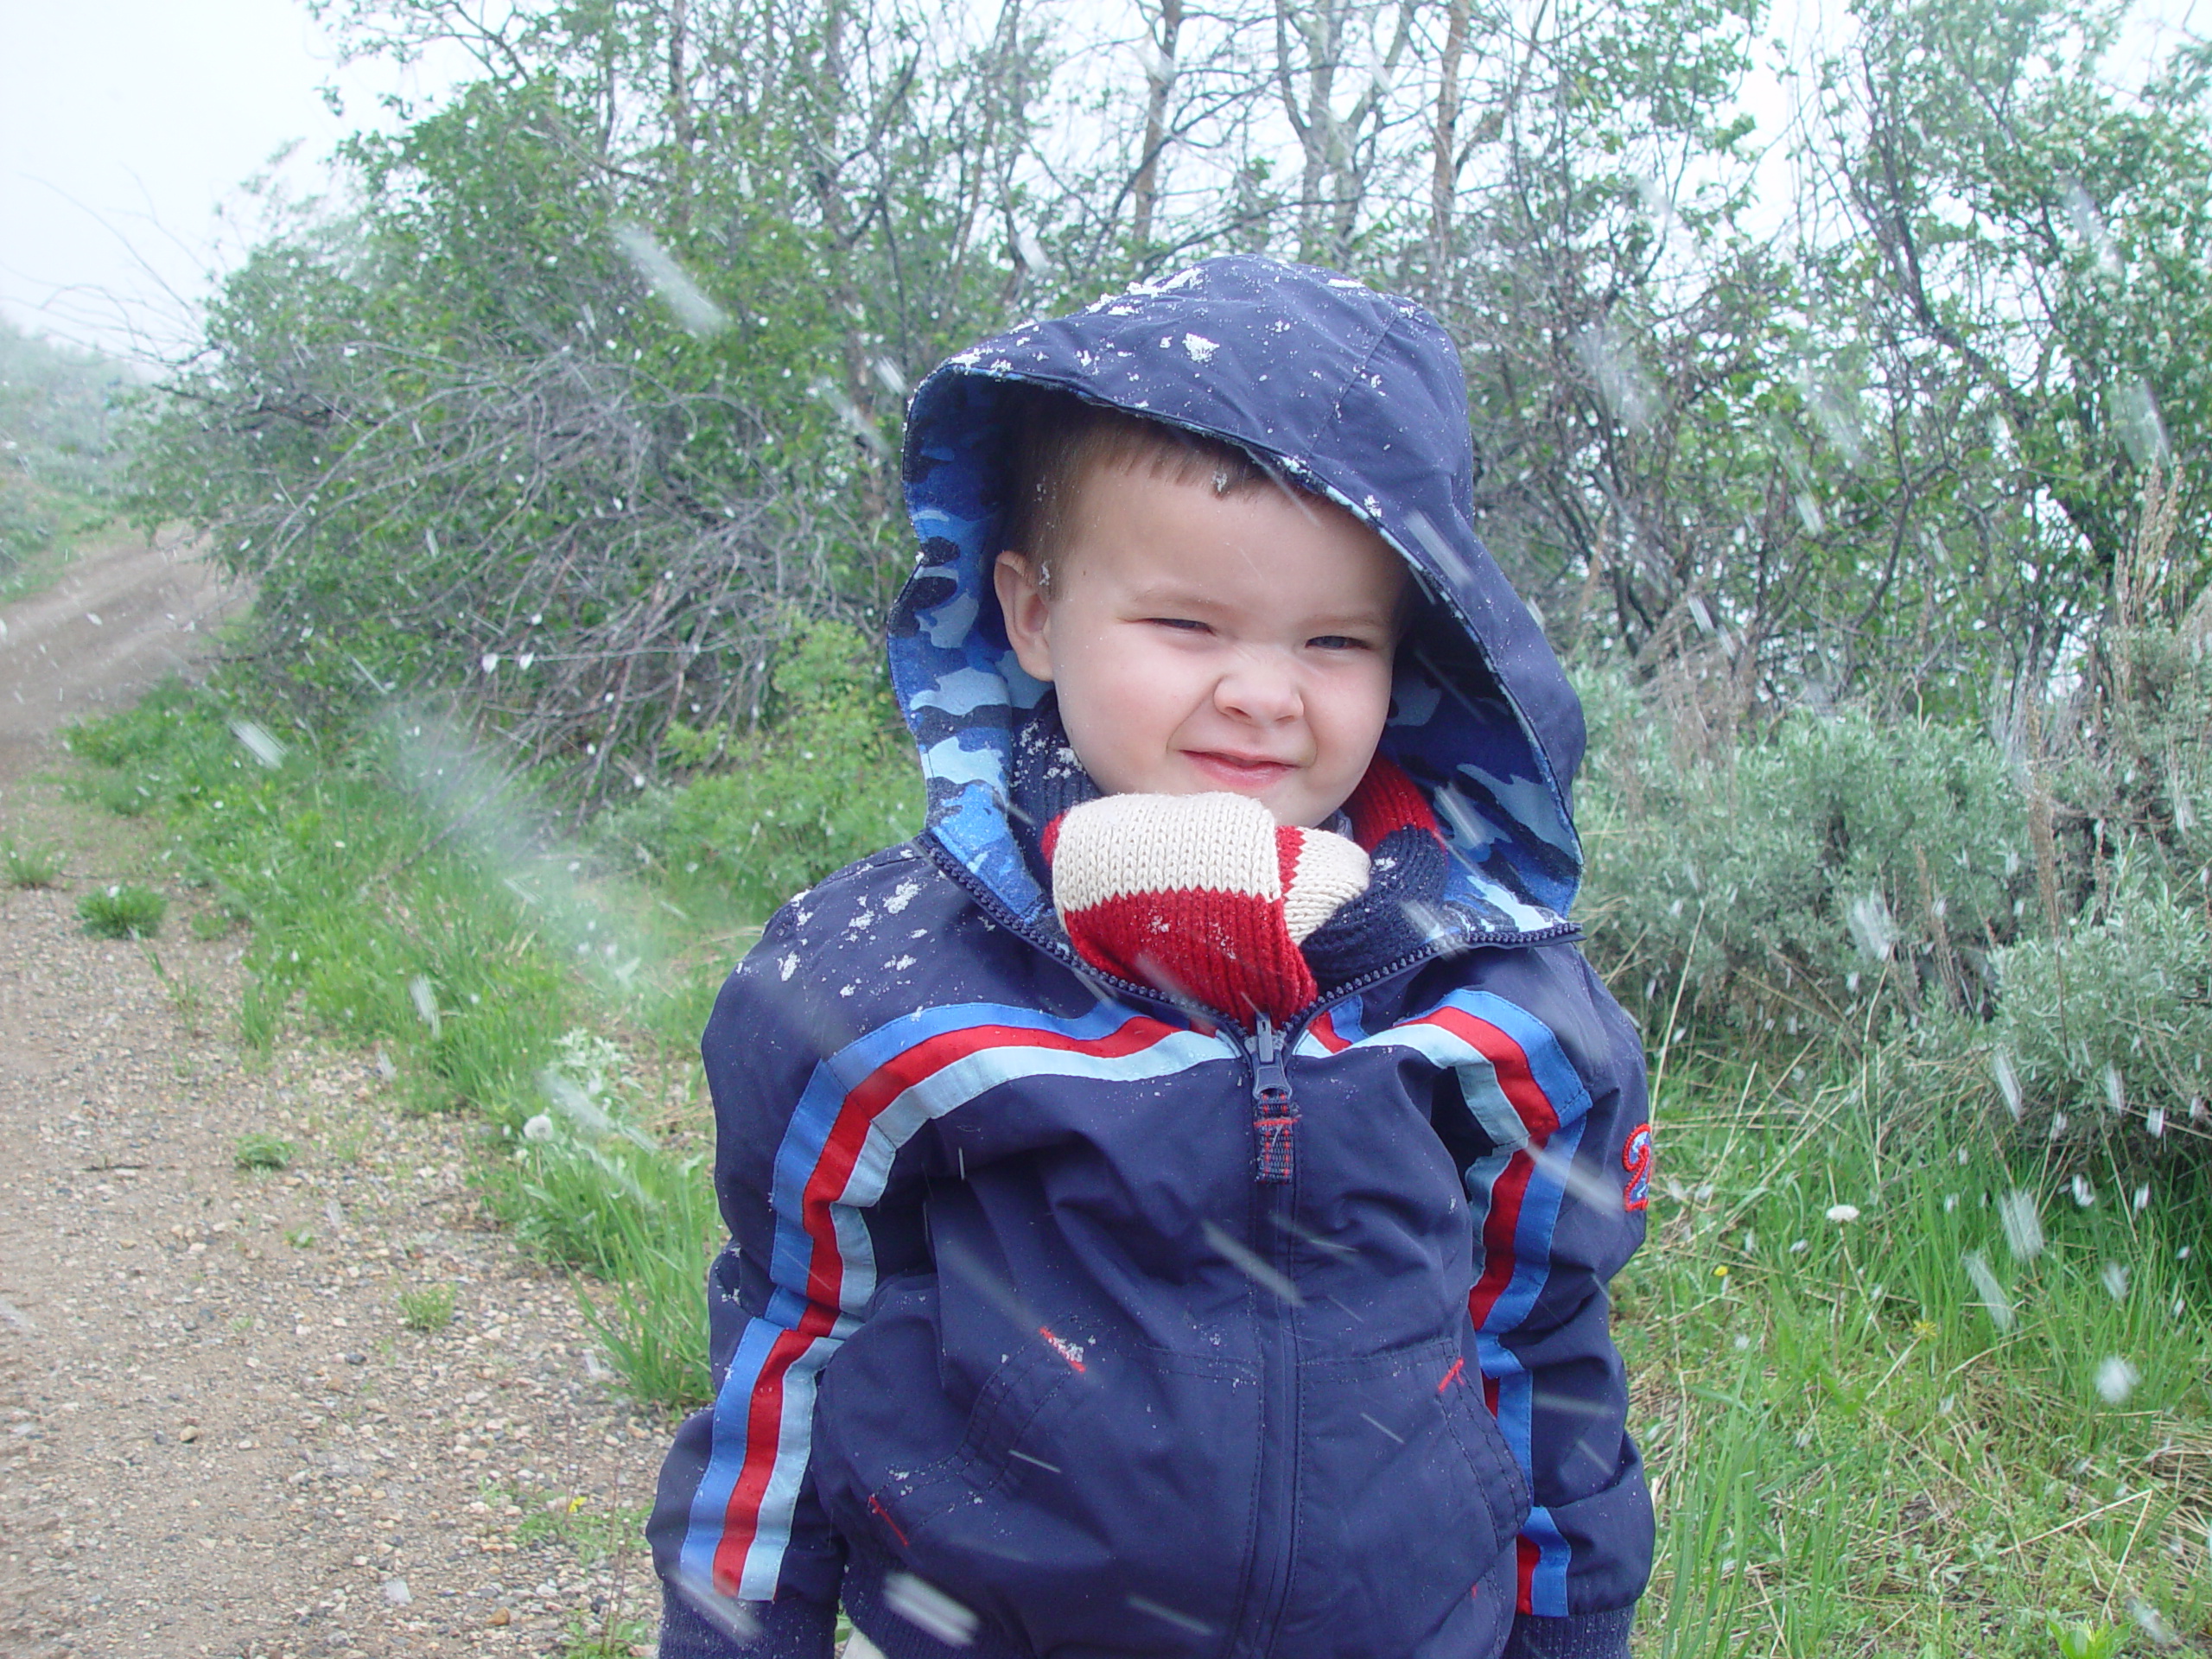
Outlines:
[[[1073, 392], [1015, 387], [1006, 398], [1006, 495], [998, 544], [1029, 562], [1044, 593], [1066, 551], [1071, 513], [1095, 471], [1137, 471], [1175, 484], [1212, 482], [1217, 495], [1296, 489], [1225, 438], [1170, 427]], [[1303, 491], [1298, 491], [1303, 495]]]

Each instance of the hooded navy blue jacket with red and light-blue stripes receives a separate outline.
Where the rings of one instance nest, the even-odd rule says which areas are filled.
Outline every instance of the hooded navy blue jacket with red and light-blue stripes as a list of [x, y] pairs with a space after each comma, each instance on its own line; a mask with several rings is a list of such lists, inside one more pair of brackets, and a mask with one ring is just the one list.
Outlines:
[[[1243, 445], [1416, 573], [1383, 748], [1451, 876], [1281, 1031], [1084, 969], [1009, 827], [1046, 690], [989, 575], [1018, 383]], [[1582, 712], [1471, 460], [1420, 307], [1248, 257], [916, 394], [889, 653], [929, 827], [785, 905], [706, 1031], [732, 1239], [648, 1526], [664, 1655], [823, 1659], [841, 1597], [891, 1659], [1626, 1655], [1644, 1057], [1566, 920]]]

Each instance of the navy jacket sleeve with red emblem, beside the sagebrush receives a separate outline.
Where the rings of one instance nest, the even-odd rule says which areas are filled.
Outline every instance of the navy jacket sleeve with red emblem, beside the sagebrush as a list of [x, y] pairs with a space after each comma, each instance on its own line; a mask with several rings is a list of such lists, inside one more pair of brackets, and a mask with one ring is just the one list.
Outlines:
[[1606, 1283], [1644, 1243], [1644, 1044], [1571, 945], [1495, 953], [1480, 987], [1500, 1042], [1486, 1073], [1462, 1077], [1489, 1141], [1467, 1172], [1469, 1314], [1533, 1498], [1506, 1659], [1626, 1659], [1652, 1509]]

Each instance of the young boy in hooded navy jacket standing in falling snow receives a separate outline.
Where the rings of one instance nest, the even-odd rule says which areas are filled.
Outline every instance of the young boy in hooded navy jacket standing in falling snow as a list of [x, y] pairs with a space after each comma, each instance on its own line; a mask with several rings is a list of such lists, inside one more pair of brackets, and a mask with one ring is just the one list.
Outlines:
[[666, 1659], [1626, 1657], [1644, 1062], [1471, 478], [1436, 323], [1265, 259], [922, 385], [929, 830], [706, 1031]]

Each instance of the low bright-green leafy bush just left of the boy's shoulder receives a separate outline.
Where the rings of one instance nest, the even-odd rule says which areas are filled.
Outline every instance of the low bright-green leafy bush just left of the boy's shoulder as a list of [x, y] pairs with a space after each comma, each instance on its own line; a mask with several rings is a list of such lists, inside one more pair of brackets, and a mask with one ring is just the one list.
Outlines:
[[922, 781], [880, 653], [841, 622], [799, 630], [772, 672], [759, 737], [677, 757], [723, 770], [615, 814], [606, 834], [648, 849], [686, 887], [719, 885], [765, 916], [832, 869], [920, 830]]

